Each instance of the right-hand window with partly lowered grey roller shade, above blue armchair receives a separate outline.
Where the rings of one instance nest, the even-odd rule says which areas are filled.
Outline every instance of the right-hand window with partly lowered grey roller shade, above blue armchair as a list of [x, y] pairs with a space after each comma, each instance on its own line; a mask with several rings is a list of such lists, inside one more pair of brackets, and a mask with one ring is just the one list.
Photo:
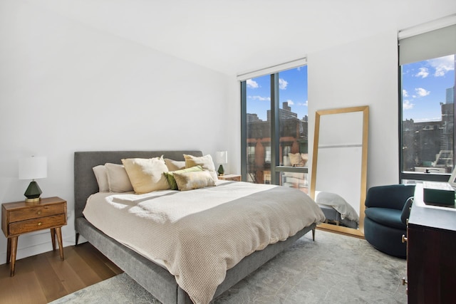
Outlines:
[[455, 167], [456, 25], [400, 38], [400, 180]]

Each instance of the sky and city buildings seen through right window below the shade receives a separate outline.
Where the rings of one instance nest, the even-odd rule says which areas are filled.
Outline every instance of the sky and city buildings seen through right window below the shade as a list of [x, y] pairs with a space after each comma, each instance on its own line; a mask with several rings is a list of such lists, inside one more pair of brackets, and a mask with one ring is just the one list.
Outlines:
[[455, 56], [402, 66], [403, 171], [451, 173], [455, 147]]

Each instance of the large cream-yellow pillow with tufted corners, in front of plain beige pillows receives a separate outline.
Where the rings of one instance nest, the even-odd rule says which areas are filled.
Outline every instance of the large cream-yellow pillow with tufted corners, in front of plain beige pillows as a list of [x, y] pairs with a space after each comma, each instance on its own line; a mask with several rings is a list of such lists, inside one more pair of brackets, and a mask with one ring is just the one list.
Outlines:
[[153, 158], [128, 158], [122, 159], [125, 171], [130, 178], [133, 189], [137, 194], [144, 194], [157, 190], [170, 189], [167, 178], [163, 172], [167, 172], [163, 156]]

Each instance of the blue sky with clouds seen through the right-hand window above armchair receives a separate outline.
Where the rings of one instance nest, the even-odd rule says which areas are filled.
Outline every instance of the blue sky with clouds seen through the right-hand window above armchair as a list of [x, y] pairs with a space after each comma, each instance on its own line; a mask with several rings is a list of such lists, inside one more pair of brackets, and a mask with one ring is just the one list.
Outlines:
[[454, 55], [403, 65], [403, 120], [441, 120], [440, 103], [445, 103], [446, 89], [454, 85]]

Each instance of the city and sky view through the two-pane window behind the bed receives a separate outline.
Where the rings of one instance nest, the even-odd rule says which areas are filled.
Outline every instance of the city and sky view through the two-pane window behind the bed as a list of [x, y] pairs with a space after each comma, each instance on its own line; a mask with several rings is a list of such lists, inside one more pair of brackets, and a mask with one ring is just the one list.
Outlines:
[[[271, 77], [247, 80], [247, 180], [271, 182]], [[307, 66], [279, 73], [279, 165], [305, 167], [308, 160]], [[307, 192], [307, 174], [281, 172], [279, 184]]]

